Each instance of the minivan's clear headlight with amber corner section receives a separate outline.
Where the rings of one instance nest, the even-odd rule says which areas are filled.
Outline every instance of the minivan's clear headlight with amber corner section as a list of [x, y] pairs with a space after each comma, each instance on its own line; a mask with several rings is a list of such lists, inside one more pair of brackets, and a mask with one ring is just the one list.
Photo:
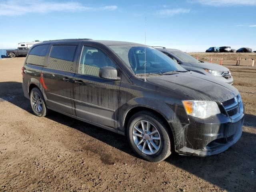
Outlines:
[[220, 109], [215, 101], [182, 101], [188, 115], [197, 118], [208, 118], [220, 114]]

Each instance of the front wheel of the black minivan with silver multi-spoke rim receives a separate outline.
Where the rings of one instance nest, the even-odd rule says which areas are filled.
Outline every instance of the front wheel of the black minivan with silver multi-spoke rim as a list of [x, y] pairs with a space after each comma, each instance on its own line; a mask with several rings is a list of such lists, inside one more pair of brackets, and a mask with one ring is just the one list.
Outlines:
[[[145, 131], [146, 127], [148, 127], [147, 132]], [[134, 114], [128, 122], [126, 134], [132, 150], [144, 160], [160, 162], [170, 156], [172, 152], [170, 141], [172, 137], [167, 125], [162, 118], [153, 112], [141, 111]], [[152, 139], [153, 137], [156, 140]]]

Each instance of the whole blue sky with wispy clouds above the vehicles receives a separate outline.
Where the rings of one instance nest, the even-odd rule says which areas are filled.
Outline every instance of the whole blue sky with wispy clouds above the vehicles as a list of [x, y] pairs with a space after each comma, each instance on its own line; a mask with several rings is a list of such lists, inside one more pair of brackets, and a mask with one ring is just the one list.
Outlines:
[[[256, 50], [256, 0], [0, 0], [0, 49], [64, 38]], [[146, 18], [146, 21], [145, 21]]]

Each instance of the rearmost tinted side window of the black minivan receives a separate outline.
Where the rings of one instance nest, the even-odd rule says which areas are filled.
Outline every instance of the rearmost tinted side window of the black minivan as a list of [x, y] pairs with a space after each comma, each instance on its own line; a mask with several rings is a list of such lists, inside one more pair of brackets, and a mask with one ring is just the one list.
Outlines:
[[46, 51], [48, 48], [47, 45], [38, 45], [30, 51], [27, 61], [27, 64], [32, 64], [32, 65], [39, 65], [39, 66], [44, 66], [44, 56], [46, 55]]

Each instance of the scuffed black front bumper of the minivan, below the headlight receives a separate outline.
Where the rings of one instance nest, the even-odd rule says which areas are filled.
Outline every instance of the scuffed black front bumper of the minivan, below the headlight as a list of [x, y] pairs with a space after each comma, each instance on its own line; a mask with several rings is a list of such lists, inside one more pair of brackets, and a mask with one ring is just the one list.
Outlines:
[[235, 120], [228, 120], [222, 114], [202, 120], [190, 117], [190, 124], [183, 129], [185, 134], [176, 145], [176, 152], [184, 155], [211, 156], [227, 150], [242, 135], [244, 114]]

